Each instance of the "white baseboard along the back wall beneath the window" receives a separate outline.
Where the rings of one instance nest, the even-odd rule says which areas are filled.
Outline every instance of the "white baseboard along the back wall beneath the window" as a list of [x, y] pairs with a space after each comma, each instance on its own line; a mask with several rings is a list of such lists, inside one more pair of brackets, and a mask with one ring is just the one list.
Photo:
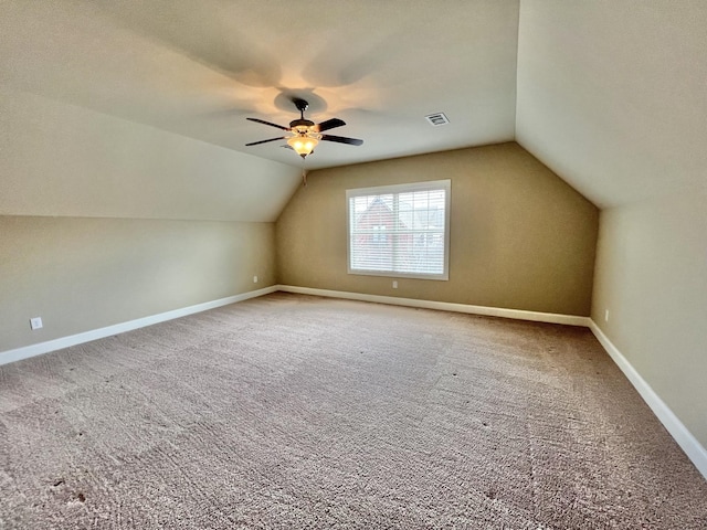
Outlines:
[[349, 300], [374, 301], [377, 304], [390, 304], [394, 306], [420, 307], [424, 309], [439, 309], [442, 311], [466, 312], [471, 315], [484, 315], [488, 317], [514, 318], [516, 320], [532, 320], [535, 322], [563, 324], [567, 326], [589, 327], [589, 317], [574, 315], [558, 315], [555, 312], [524, 311], [520, 309], [504, 309], [500, 307], [471, 306], [467, 304], [454, 304], [450, 301], [418, 300], [414, 298], [398, 298], [395, 296], [365, 295], [345, 290], [314, 289], [310, 287], [296, 287], [292, 285], [278, 285], [278, 290], [297, 293], [300, 295], [326, 296], [330, 298], [346, 298]]

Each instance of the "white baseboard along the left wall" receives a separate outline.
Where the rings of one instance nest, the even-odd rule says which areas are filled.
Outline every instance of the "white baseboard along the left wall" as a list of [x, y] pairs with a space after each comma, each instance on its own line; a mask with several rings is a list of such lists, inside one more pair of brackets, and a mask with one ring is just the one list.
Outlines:
[[7, 364], [9, 362], [28, 359], [30, 357], [41, 356], [42, 353], [49, 353], [50, 351], [61, 350], [62, 348], [68, 348], [70, 346], [82, 344], [84, 342], [103, 339], [112, 335], [144, 328], [145, 326], [151, 326], [154, 324], [172, 320], [175, 318], [186, 317], [187, 315], [193, 315], [194, 312], [201, 312], [209, 309], [214, 309], [217, 307], [228, 306], [229, 304], [235, 304], [236, 301], [243, 301], [247, 300], [249, 298], [267, 295], [270, 293], [275, 293], [276, 290], [276, 286], [265, 287], [257, 290], [242, 293], [240, 295], [229, 296], [226, 298], [220, 298], [218, 300], [204, 301], [203, 304], [197, 304], [194, 306], [182, 307], [181, 309], [173, 309], [171, 311], [129, 320], [127, 322], [107, 326], [105, 328], [92, 329], [89, 331], [71, 335], [68, 337], [62, 337], [60, 339], [48, 340], [45, 342], [39, 342], [36, 344], [15, 348], [13, 350], [6, 350], [0, 352], [0, 364]]

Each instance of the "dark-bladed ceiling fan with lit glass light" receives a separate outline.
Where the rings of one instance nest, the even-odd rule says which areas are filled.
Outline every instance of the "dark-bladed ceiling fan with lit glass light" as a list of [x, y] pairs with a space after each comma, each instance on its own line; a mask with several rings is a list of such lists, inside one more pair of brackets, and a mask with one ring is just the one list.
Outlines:
[[319, 140], [336, 141], [338, 144], [348, 144], [350, 146], [360, 146], [363, 144], [363, 140], [359, 140], [357, 138], [323, 135], [321, 132], [325, 130], [341, 127], [346, 125], [346, 123], [339, 118], [331, 118], [321, 121], [320, 124], [315, 124], [309, 119], [305, 119], [305, 110], [309, 106], [305, 99], [293, 97], [292, 103], [294, 103], [297, 110], [299, 110], [299, 119], [292, 120], [289, 123], [289, 127], [284, 127], [263, 119], [245, 118], [251, 121], [257, 121], [258, 124], [270, 125], [271, 127], [286, 130], [292, 132], [292, 136], [278, 136], [277, 138], [268, 138], [267, 140], [252, 141], [251, 144], [246, 144], [246, 146], [257, 146], [258, 144], [266, 144], [268, 141], [287, 140], [289, 147], [292, 147], [302, 158], [305, 158], [314, 151], [314, 148], [317, 147]]

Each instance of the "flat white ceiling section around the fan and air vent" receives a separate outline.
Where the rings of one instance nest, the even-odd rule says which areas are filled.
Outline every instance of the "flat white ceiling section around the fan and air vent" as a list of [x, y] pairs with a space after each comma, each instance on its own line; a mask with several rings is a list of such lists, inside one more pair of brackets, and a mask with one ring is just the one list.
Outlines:
[[[310, 169], [510, 140], [518, 2], [6, 1], [3, 77], [21, 89], [257, 157], [309, 100], [329, 132]], [[424, 116], [451, 120], [433, 128]]]

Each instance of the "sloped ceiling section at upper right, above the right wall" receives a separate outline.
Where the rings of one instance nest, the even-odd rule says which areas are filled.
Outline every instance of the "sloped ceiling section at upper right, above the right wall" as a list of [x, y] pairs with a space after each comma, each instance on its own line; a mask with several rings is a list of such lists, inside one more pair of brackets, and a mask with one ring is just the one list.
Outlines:
[[523, 0], [519, 144], [600, 208], [707, 191], [707, 2]]

